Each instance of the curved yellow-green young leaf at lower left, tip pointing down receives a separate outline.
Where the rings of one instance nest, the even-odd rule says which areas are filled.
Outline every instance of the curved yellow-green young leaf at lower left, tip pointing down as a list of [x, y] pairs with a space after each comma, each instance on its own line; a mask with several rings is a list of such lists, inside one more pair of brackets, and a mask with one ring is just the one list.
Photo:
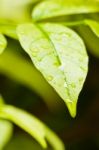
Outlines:
[[43, 148], [46, 148], [44, 127], [34, 116], [13, 106], [4, 105], [0, 117], [8, 119], [21, 127], [34, 137]]

